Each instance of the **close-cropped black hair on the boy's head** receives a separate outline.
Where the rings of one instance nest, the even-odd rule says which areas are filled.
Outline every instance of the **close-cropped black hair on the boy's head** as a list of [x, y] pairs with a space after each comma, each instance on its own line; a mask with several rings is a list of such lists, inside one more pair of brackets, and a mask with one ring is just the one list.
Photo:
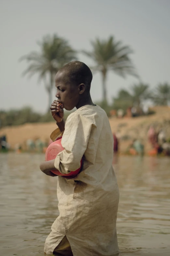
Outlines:
[[68, 79], [76, 85], [85, 84], [86, 91], [90, 91], [90, 86], [92, 82], [92, 72], [90, 68], [80, 61], [72, 61], [64, 65], [59, 72], [66, 73]]

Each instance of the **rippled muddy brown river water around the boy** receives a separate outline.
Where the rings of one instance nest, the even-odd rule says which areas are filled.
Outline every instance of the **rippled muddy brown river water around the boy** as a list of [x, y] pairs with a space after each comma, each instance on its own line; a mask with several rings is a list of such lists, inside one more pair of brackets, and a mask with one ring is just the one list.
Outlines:
[[[0, 154], [0, 256], [43, 256], [59, 212], [57, 178], [39, 170], [43, 154]], [[170, 255], [170, 158], [120, 156], [120, 256]], [[80, 255], [81, 256], [81, 255]]]

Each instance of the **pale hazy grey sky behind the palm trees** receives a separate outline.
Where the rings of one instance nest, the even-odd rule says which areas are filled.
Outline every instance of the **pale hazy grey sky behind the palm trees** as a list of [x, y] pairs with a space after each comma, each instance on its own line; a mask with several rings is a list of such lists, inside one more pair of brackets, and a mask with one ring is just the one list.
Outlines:
[[[37, 76], [22, 77], [27, 64], [18, 62], [38, 50], [36, 42], [46, 34], [57, 33], [77, 50], [91, 50], [90, 40], [114, 35], [133, 48], [132, 59], [143, 82], [151, 88], [170, 83], [169, 0], [0, 0], [0, 24], [0, 109], [32, 106], [46, 111], [43, 82], [37, 84]], [[78, 59], [92, 65], [83, 55]], [[109, 73], [109, 99], [136, 81]], [[93, 101], [102, 99], [100, 74], [93, 76], [91, 94]]]

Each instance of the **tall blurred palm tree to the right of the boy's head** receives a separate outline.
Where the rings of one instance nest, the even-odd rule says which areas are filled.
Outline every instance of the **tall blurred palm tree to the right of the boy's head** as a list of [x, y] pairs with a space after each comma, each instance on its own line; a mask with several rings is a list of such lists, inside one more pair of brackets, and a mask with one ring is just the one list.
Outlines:
[[103, 100], [107, 102], [106, 78], [108, 71], [114, 71], [121, 77], [126, 77], [126, 75], [138, 77], [129, 58], [133, 51], [128, 45], [122, 45], [120, 41], [116, 42], [113, 36], [107, 40], [97, 38], [91, 44], [92, 52], [83, 51], [83, 53], [96, 63], [92, 70], [99, 71], [102, 75]]

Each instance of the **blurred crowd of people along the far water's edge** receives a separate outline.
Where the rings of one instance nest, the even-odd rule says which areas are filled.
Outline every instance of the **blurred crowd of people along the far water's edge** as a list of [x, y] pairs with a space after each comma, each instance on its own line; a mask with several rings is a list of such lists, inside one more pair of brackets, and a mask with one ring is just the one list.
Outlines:
[[[162, 154], [164, 156], [170, 156], [170, 138], [166, 137], [166, 134], [163, 129], [160, 129], [159, 132], [156, 132], [153, 126], [150, 126], [148, 130], [148, 142], [151, 145], [151, 150], [147, 153], [150, 156]], [[114, 139], [114, 153], [120, 151], [120, 142], [121, 136], [119, 132], [113, 133]], [[15, 151], [17, 153], [21, 152], [39, 152], [45, 153], [47, 147], [52, 143], [52, 141], [43, 142], [40, 138], [28, 139], [22, 145], [16, 144]], [[7, 136], [3, 135], [0, 137], [0, 151], [7, 152], [10, 150], [10, 145], [7, 142]], [[144, 145], [139, 139], [133, 139], [132, 142], [126, 149], [126, 153], [131, 155], [144, 155]]]

